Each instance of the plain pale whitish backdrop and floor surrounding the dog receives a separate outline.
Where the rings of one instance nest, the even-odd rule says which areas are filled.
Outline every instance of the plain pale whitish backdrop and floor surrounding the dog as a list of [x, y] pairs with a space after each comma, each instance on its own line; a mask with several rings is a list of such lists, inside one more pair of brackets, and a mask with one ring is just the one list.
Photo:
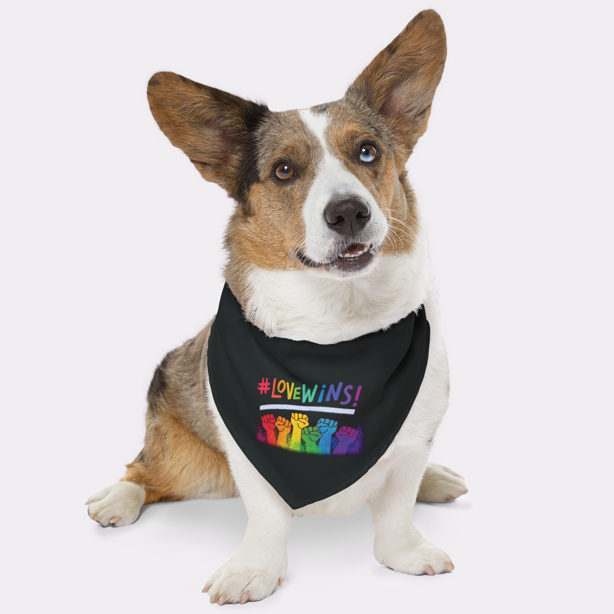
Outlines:
[[[271, 109], [340, 98], [416, 2], [13, 2], [2, 45], [6, 612], [201, 612], [240, 499], [121, 529], [83, 505], [139, 452], [165, 352], [214, 314], [232, 204], [158, 130], [172, 70]], [[605, 612], [612, 554], [612, 4], [430, 3], [448, 61], [408, 168], [467, 478], [415, 524], [451, 574], [372, 554], [370, 510], [295, 519], [266, 612]]]

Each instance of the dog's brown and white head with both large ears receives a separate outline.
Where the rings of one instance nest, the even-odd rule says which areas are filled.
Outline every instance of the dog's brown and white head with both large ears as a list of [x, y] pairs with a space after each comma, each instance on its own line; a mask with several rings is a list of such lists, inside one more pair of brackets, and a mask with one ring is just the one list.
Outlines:
[[429, 120], [446, 58], [443, 23], [427, 10], [345, 96], [300, 111], [158, 72], [147, 96], [161, 130], [238, 206], [226, 235], [227, 276], [253, 268], [338, 278], [381, 254], [410, 251], [418, 220], [405, 163]]

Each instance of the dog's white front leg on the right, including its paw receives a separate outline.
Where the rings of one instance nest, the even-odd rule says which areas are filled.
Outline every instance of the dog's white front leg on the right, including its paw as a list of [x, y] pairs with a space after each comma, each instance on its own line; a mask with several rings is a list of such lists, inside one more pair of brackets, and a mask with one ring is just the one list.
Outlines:
[[411, 523], [427, 449], [395, 459], [386, 483], [370, 501], [375, 524], [375, 558], [387, 567], [413, 575], [451, 572], [448, 554], [422, 537]]

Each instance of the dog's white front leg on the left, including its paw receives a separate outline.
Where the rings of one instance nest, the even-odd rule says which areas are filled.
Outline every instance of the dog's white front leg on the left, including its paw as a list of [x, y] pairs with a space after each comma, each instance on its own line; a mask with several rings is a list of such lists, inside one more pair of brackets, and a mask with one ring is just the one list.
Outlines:
[[287, 543], [292, 510], [238, 447], [230, 464], [247, 510], [247, 529], [239, 548], [203, 588], [211, 603], [236, 604], [268, 597], [281, 585], [288, 567]]

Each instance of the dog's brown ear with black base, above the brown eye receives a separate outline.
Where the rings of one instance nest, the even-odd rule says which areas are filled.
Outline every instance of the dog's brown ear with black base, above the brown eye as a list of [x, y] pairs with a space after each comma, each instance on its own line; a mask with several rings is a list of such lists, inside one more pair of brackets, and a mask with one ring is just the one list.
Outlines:
[[186, 153], [200, 174], [242, 200], [241, 166], [249, 134], [268, 107], [174, 72], [153, 75], [147, 99], [160, 130]]

